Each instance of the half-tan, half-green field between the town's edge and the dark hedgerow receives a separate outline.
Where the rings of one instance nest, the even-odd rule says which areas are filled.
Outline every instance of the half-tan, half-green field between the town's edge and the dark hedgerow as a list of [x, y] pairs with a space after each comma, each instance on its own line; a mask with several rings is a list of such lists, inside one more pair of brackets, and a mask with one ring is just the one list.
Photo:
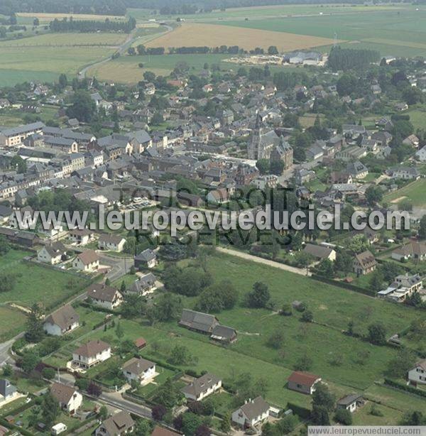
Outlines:
[[[137, 83], [143, 79], [143, 72], [152, 71], [155, 75], [167, 76], [178, 62], [187, 62], [191, 69], [202, 70], [204, 63], [209, 65], [219, 63], [229, 58], [229, 55], [152, 55], [152, 56], [121, 56], [102, 65], [89, 69], [88, 75], [98, 80], [111, 82]], [[142, 63], [143, 68], [138, 64]], [[237, 67], [235, 64], [224, 64], [221, 67]]]

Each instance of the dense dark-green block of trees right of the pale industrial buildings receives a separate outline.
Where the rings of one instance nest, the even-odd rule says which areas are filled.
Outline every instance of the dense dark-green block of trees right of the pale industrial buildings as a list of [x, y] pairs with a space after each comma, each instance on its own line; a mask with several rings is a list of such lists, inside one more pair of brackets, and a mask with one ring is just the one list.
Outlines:
[[328, 66], [334, 70], [352, 70], [368, 67], [371, 62], [377, 62], [380, 53], [377, 50], [333, 47], [328, 58]]

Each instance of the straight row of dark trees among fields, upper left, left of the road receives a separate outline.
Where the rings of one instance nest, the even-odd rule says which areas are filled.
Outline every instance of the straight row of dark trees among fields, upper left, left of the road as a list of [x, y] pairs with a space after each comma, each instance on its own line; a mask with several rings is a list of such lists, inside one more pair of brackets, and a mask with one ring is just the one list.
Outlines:
[[136, 20], [130, 17], [128, 21], [105, 21], [74, 20], [72, 17], [67, 20], [50, 21], [50, 31], [52, 32], [125, 32], [130, 33], [136, 27]]

